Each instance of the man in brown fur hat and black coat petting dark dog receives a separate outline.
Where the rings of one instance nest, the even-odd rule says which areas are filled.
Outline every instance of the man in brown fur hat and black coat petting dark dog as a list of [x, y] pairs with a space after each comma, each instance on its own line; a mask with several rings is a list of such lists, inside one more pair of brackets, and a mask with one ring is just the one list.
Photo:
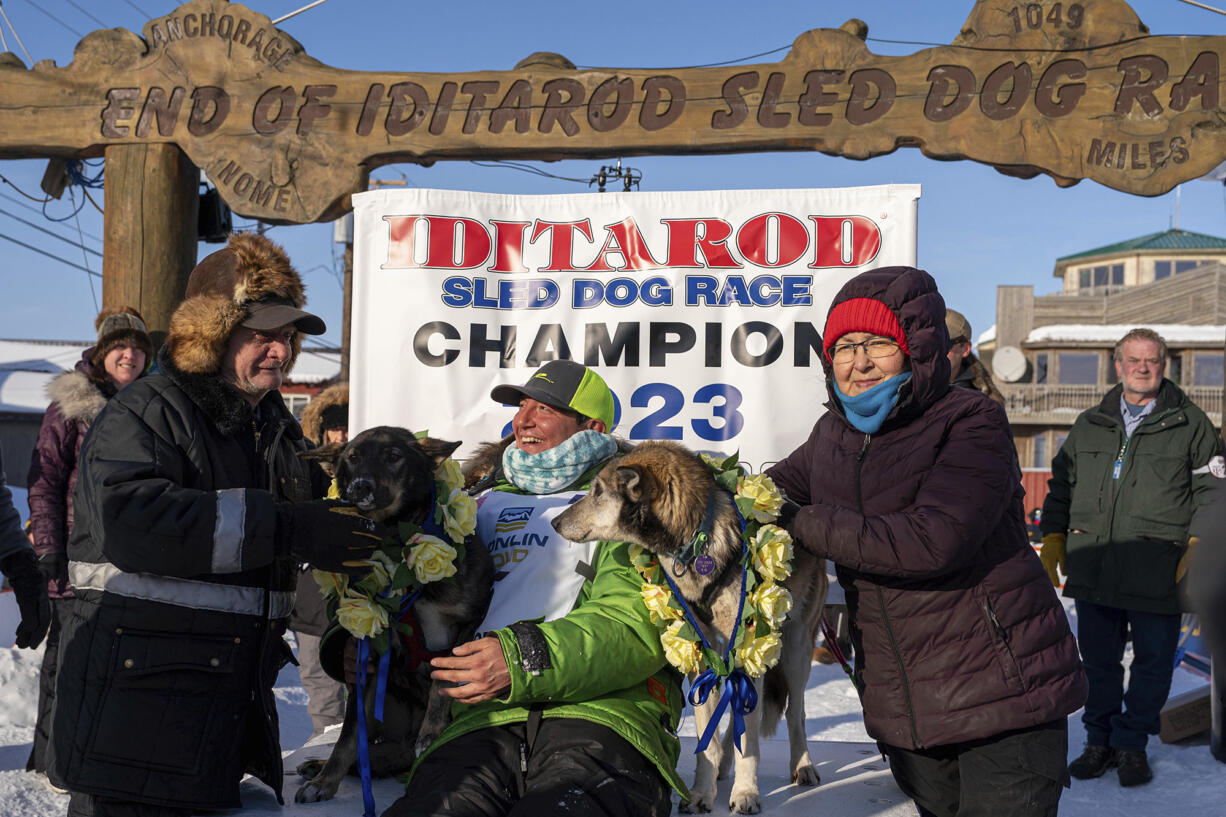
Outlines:
[[234, 236], [192, 270], [161, 373], [93, 422], [48, 758], [70, 817], [235, 808], [244, 773], [281, 801], [272, 685], [297, 564], [345, 570], [379, 539], [310, 499], [322, 475], [277, 393], [325, 329], [304, 303], [280, 247]]

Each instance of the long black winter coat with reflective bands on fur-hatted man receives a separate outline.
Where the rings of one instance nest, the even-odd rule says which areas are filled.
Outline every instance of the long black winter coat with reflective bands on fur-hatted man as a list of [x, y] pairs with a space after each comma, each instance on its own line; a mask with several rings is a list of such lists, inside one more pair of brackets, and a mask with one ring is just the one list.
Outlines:
[[49, 777], [72, 791], [234, 808], [245, 772], [281, 799], [272, 686], [297, 566], [278, 503], [318, 496], [297, 421], [216, 377], [139, 380], [81, 450]]

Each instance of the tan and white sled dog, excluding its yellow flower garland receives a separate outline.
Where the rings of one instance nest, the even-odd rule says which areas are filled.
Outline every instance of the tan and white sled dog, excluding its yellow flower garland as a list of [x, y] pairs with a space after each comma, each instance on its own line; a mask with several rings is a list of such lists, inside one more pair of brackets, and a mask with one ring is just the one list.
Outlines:
[[[714, 503], [712, 513], [707, 503]], [[677, 577], [673, 554], [694, 540], [704, 523], [711, 526], [706, 553], [715, 559], [714, 569], [702, 575], [690, 566]], [[741, 523], [732, 497], [716, 485], [711, 470], [698, 455], [676, 443], [641, 443], [606, 465], [592, 481], [587, 496], [562, 513], [553, 526], [574, 542], [625, 541], [655, 553], [694, 611], [702, 635], [723, 654], [741, 602]], [[761, 810], [758, 736], [760, 731], [774, 734], [785, 704], [792, 779], [801, 785], [820, 781], [805, 741], [804, 688], [826, 596], [823, 559], [794, 548], [793, 573], [785, 586], [792, 594], [792, 611], [783, 623], [779, 664], [754, 682], [759, 687], [759, 705], [745, 718], [742, 752], [736, 757], [736, 778], [728, 801], [736, 813], [753, 815]], [[717, 703], [716, 691], [704, 705], [695, 708], [699, 735], [706, 729]], [[682, 811], [711, 811], [716, 774], [727, 775], [732, 754], [732, 730], [728, 729], [722, 741], [712, 740], [699, 754], [690, 790], [693, 799], [682, 804]]]

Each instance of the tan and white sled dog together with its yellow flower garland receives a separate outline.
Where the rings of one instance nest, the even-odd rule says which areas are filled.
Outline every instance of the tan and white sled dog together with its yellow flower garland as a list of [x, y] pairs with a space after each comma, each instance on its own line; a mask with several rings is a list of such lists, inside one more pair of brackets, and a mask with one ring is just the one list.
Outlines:
[[[747, 483], [752, 485], [744, 493], [737, 493], [737, 486]], [[774, 494], [774, 509], [769, 501], [754, 507], [748, 496], [767, 493]], [[779, 513], [777, 501], [766, 477], [737, 481], [736, 458], [721, 464], [676, 443], [646, 442], [606, 465], [590, 492], [553, 521], [571, 541], [630, 542], [631, 558], [645, 578], [645, 599], [658, 597], [649, 610], [662, 629], [666, 651], [672, 640], [669, 660], [690, 677], [700, 736], [684, 812], [707, 812], [715, 804], [716, 775], [726, 777], [738, 736], [729, 725], [722, 741], [715, 735], [704, 748], [702, 737], [721, 694], [731, 696], [747, 676], [761, 692], [761, 702], [743, 715], [728, 807], [737, 813], [760, 811], [759, 732], [775, 731], [785, 705], [792, 779], [801, 785], [819, 783], [805, 740], [804, 689], [825, 604], [825, 564], [792, 548], [791, 537], [770, 524]], [[738, 505], [745, 510], [738, 513]], [[742, 607], [743, 583], [748, 597]], [[649, 584], [661, 585], [664, 595]], [[688, 645], [677, 638], [688, 634], [696, 643], [684, 656]], [[680, 661], [674, 660], [678, 646]], [[741, 678], [732, 677], [738, 672]], [[739, 686], [733, 710], [747, 697]], [[717, 725], [711, 724], [712, 731]]]

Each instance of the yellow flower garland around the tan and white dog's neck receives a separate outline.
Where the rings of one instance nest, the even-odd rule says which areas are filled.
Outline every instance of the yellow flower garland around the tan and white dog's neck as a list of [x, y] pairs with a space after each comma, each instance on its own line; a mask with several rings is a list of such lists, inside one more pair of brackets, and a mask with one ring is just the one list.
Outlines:
[[704, 648], [694, 626], [685, 621], [680, 604], [662, 575], [660, 562], [640, 545], [630, 546], [630, 563], [642, 577], [642, 604], [660, 629], [664, 658], [682, 673], [691, 675], [710, 667], [717, 675], [741, 669], [760, 678], [779, 662], [782, 639], [780, 631], [792, 608], [792, 595], [780, 584], [792, 574], [792, 537], [774, 525], [783, 498], [775, 482], [764, 474], [741, 475], [737, 455], [717, 460], [700, 455], [715, 472], [720, 488], [729, 491], [745, 520], [745, 607], [732, 649], [732, 666], [714, 649]]

